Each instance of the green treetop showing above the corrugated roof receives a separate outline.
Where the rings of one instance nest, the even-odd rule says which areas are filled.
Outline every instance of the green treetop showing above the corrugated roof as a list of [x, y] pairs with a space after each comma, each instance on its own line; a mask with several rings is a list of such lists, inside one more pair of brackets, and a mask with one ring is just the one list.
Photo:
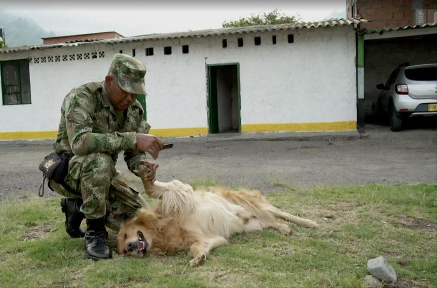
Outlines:
[[243, 26], [254, 26], [254, 25], [272, 25], [272, 24], [284, 24], [284, 23], [294, 23], [300, 20], [299, 15], [296, 16], [286, 16], [280, 13], [278, 9], [274, 9], [269, 13], [258, 13], [258, 15], [252, 14], [250, 17], [241, 17], [234, 21], [224, 21], [222, 23], [223, 28], [226, 27], [243, 27]]

